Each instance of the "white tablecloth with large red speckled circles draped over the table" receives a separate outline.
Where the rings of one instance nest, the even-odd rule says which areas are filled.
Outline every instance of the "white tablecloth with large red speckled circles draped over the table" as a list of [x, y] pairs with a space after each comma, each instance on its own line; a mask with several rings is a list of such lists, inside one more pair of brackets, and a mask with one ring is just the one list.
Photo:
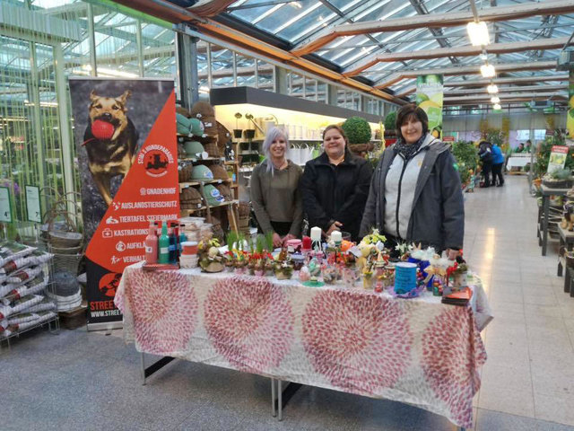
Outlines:
[[478, 278], [474, 292], [477, 312], [427, 292], [405, 300], [135, 264], [115, 302], [124, 339], [140, 352], [407, 402], [472, 427], [486, 360], [479, 327], [491, 319]]

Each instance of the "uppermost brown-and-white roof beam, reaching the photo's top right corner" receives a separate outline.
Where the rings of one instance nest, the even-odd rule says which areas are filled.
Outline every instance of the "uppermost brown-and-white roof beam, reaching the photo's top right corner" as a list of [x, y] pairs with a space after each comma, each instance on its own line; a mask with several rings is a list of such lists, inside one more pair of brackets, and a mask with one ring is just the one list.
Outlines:
[[[511, 6], [491, 7], [478, 11], [478, 16], [482, 21], [508, 21], [518, 18], [562, 14], [574, 12], [574, 2], [572, 0], [560, 0], [544, 3], [513, 4]], [[326, 29], [317, 33], [317, 36], [306, 40], [302, 44], [292, 49], [292, 53], [298, 56], [309, 54], [317, 48], [324, 47], [327, 43], [341, 36], [356, 34], [366, 34], [382, 31], [413, 30], [422, 27], [441, 28], [465, 25], [474, 21], [473, 13], [433, 13], [430, 15], [419, 15], [407, 18], [396, 18], [384, 21], [354, 22], [343, 24]]]

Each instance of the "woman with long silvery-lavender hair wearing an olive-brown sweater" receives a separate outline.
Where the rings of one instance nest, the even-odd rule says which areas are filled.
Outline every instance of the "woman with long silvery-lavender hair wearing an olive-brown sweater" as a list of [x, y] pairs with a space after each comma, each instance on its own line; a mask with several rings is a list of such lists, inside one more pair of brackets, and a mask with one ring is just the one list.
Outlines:
[[289, 146], [285, 131], [269, 129], [263, 142], [265, 160], [251, 174], [251, 204], [261, 230], [273, 232], [274, 247], [298, 238], [303, 220], [299, 192], [302, 170], [287, 158]]

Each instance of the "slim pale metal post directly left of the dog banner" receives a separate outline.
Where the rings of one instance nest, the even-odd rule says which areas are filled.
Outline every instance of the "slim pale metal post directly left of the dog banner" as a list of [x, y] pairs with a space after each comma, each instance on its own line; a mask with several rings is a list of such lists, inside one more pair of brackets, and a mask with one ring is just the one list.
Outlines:
[[[68, 194], [75, 191], [74, 165], [72, 163], [74, 159], [74, 138], [69, 123], [72, 115], [68, 110], [67, 87], [64, 75], [64, 49], [62, 49], [61, 44], [54, 47], [54, 63], [57, 111], [60, 126], [60, 148], [62, 150], [62, 174], [64, 175], [64, 190], [65, 193]], [[76, 207], [74, 206], [73, 200], [74, 199], [68, 199], [67, 210], [71, 214], [76, 214]]]

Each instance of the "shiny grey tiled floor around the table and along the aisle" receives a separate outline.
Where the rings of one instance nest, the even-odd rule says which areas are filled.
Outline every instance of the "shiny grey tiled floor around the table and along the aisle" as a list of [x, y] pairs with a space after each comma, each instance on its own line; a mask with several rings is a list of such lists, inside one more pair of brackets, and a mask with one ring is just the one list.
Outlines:
[[[556, 246], [540, 254], [526, 178], [465, 198], [465, 255], [495, 312], [475, 429], [574, 431], [574, 299], [556, 277]], [[0, 430], [456, 429], [421, 409], [311, 387], [278, 422], [265, 378], [183, 361], [142, 386], [139, 356], [115, 332], [39, 330], [1, 350]]]

